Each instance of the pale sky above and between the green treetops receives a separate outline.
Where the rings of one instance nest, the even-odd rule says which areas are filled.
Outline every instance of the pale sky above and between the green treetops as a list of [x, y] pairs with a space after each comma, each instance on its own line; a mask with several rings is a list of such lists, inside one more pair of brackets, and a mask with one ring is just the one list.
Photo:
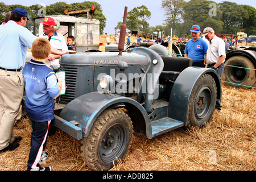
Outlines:
[[[68, 4], [75, 2], [84, 2], [85, 0], [0, 0], [0, 2], [4, 2], [6, 5], [16, 5], [22, 3], [23, 6], [31, 6], [40, 3], [44, 3], [44, 5], [48, 6], [55, 2], [66, 2]], [[123, 13], [125, 11], [125, 6], [127, 6], [127, 12], [134, 9], [134, 7], [138, 6], [146, 6], [148, 10], [151, 12], [151, 19], [148, 20], [150, 26], [155, 27], [157, 25], [162, 25], [164, 19], [164, 11], [161, 8], [162, 0], [91, 0], [97, 2], [101, 5], [103, 14], [106, 16], [106, 27], [104, 29], [104, 33], [114, 34], [114, 27], [117, 26], [118, 22], [123, 22]], [[188, 2], [189, 0], [185, 0]], [[212, 0], [216, 3], [220, 3], [223, 0]], [[229, 1], [229, 0], [226, 0]], [[233, 0], [230, 2], [235, 2], [238, 5], [250, 5], [256, 8], [255, 0]]]

